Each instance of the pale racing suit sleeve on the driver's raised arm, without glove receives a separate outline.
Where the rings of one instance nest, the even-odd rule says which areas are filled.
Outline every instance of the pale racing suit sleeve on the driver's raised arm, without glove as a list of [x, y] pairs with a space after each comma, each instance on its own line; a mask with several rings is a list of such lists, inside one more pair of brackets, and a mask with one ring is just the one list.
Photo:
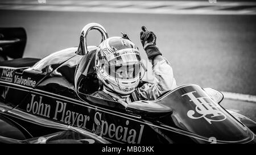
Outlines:
[[139, 95], [147, 100], [154, 100], [166, 91], [172, 90], [176, 85], [170, 62], [163, 58], [152, 66], [155, 83], [145, 83], [137, 89]]

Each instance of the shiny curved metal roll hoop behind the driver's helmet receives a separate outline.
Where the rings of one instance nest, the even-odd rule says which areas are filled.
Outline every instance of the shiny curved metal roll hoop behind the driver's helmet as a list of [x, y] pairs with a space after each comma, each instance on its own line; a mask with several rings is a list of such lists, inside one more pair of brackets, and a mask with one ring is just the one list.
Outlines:
[[77, 55], [81, 55], [84, 56], [85, 54], [88, 53], [88, 49], [87, 49], [87, 43], [86, 43], [86, 36], [88, 34], [88, 32], [90, 30], [98, 30], [101, 33], [102, 36], [102, 41], [104, 41], [105, 39], [108, 39], [108, 33], [106, 32], [105, 28], [103, 26], [101, 26], [98, 23], [89, 23], [87, 24], [84, 28], [82, 28], [81, 34], [80, 34], [80, 43], [79, 43], [79, 47], [77, 49]]

